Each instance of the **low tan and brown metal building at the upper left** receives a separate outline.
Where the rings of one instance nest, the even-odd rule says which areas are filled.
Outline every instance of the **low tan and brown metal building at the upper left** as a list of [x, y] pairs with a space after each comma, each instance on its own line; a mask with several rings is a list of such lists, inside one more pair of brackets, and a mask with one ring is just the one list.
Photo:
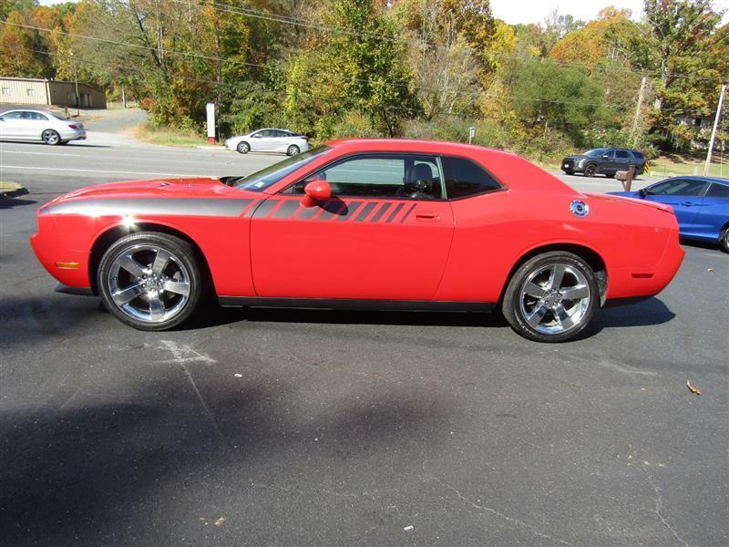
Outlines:
[[56, 107], [107, 108], [103, 91], [63, 80], [32, 77], [0, 77], [0, 103]]

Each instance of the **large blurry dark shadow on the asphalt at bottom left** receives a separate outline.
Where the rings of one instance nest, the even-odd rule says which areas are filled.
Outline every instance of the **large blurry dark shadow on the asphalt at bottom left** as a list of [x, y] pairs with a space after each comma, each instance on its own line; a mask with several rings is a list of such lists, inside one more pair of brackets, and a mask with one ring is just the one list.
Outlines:
[[[155, 377], [123, 376], [116, 397], [71, 387], [56, 400], [5, 406], [4, 545], [241, 544], [249, 529], [261, 532], [258, 519], [285, 521], [301, 502], [282, 493], [292, 477], [296, 490], [314, 489], [347, 460], [364, 465], [423, 439], [436, 446], [454, 419], [438, 398], [405, 388], [293, 417], [288, 408], [301, 400], [278, 378], [221, 378], [206, 404], [177, 365]], [[213, 526], [225, 510], [229, 523]]]

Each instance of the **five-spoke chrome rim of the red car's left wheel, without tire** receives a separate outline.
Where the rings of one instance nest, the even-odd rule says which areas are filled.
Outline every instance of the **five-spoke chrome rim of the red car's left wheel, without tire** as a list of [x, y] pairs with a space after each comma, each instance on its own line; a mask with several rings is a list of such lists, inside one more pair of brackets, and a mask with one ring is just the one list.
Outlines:
[[157, 245], [132, 245], [114, 258], [108, 294], [124, 314], [145, 323], [179, 315], [190, 299], [190, 274], [173, 253]]

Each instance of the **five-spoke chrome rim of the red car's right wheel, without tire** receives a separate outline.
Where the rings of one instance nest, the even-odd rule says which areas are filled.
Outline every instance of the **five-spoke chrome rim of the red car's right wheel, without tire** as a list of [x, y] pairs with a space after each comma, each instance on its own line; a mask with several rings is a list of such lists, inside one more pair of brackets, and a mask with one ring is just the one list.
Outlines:
[[521, 285], [519, 305], [527, 325], [543, 335], [580, 326], [590, 308], [587, 277], [567, 263], [539, 266]]

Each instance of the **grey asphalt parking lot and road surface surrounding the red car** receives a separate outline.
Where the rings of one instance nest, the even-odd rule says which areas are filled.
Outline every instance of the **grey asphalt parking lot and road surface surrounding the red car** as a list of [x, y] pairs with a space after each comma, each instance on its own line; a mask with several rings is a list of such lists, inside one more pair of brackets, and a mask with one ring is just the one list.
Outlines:
[[561, 345], [478, 314], [209, 309], [140, 333], [53, 291], [37, 207], [278, 158], [107, 146], [0, 143], [31, 191], [0, 205], [0, 544], [729, 543], [729, 255], [684, 245], [662, 294]]

